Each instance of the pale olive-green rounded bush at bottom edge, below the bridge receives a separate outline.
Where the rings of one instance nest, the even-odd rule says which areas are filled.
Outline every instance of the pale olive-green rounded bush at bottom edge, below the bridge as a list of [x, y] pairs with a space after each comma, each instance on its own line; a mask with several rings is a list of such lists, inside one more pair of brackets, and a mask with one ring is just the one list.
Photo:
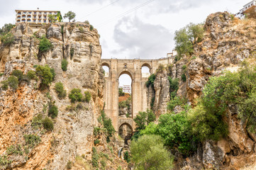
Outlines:
[[138, 141], [133, 140], [130, 152], [135, 169], [172, 169], [173, 158], [160, 136], [143, 135]]

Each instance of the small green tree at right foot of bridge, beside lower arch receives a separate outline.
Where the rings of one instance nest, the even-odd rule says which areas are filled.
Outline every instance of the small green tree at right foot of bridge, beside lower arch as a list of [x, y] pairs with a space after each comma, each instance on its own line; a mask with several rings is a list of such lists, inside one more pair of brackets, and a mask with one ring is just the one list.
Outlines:
[[155, 118], [155, 114], [149, 109], [146, 112], [139, 112], [138, 115], [136, 115], [136, 117], [133, 119], [136, 123], [136, 130], [145, 129], [146, 125], [155, 121]]

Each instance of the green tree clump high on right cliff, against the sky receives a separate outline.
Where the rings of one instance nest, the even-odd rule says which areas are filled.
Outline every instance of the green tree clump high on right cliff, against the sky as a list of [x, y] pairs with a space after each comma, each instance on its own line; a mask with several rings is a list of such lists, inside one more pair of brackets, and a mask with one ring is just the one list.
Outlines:
[[201, 24], [190, 23], [188, 26], [175, 31], [175, 50], [177, 50], [179, 58], [182, 55], [191, 55], [193, 45], [201, 42], [204, 36], [204, 28]]

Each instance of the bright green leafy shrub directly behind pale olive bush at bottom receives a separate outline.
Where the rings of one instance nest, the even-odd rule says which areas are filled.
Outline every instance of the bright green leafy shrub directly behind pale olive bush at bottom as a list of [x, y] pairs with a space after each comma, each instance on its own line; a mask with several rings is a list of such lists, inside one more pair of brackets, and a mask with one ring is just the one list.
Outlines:
[[191, 122], [184, 111], [177, 114], [160, 115], [158, 121], [157, 125], [151, 123], [140, 133], [142, 135], [160, 135], [167, 147], [177, 149], [187, 156], [196, 151], [198, 140], [192, 133]]

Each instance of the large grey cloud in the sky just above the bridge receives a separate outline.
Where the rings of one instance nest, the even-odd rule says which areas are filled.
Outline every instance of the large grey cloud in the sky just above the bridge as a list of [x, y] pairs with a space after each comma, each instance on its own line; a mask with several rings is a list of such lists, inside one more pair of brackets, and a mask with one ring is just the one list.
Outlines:
[[128, 58], [160, 58], [171, 51], [173, 34], [167, 28], [143, 23], [139, 18], [122, 18], [115, 26], [113, 38], [120, 48], [112, 54], [125, 52]]

